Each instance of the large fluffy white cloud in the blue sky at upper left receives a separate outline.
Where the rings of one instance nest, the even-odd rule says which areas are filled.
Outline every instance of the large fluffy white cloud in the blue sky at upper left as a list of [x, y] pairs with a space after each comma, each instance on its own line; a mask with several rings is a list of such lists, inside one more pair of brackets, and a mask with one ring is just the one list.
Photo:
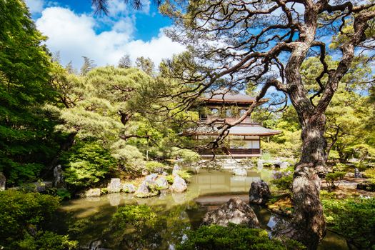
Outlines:
[[61, 64], [72, 61], [76, 68], [81, 66], [81, 56], [94, 59], [98, 66], [116, 65], [124, 54], [129, 54], [132, 60], [147, 56], [158, 65], [161, 59], [184, 51], [183, 46], [171, 41], [162, 30], [151, 41], [134, 40], [135, 19], [131, 16], [121, 17], [120, 21], [112, 20], [109, 31], [97, 34], [94, 28], [99, 26], [100, 21], [103, 20], [75, 14], [70, 9], [49, 7], [42, 11], [36, 26], [49, 37], [46, 41], [49, 49], [60, 51]]

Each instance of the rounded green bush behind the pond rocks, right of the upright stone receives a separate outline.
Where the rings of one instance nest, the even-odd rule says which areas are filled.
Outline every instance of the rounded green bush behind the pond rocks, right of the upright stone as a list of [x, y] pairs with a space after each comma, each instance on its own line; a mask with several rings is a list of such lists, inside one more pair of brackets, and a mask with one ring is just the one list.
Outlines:
[[61, 156], [61, 161], [66, 166], [66, 183], [79, 188], [98, 183], [116, 167], [109, 151], [95, 141], [78, 141]]

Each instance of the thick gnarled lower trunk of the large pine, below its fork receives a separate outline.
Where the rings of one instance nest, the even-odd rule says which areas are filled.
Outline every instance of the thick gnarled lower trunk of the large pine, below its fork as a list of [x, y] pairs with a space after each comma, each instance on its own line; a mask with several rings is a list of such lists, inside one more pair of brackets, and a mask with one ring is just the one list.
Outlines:
[[316, 249], [326, 231], [319, 198], [320, 176], [326, 172], [324, 114], [311, 117], [302, 124], [302, 154], [295, 166], [293, 180], [294, 221], [297, 239], [309, 249]]

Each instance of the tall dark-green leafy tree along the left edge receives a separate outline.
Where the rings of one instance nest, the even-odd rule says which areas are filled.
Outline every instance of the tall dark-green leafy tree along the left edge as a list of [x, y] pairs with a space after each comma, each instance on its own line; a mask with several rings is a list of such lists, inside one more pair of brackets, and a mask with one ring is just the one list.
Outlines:
[[0, 171], [9, 186], [35, 181], [56, 155], [51, 58], [26, 4], [0, 0]]

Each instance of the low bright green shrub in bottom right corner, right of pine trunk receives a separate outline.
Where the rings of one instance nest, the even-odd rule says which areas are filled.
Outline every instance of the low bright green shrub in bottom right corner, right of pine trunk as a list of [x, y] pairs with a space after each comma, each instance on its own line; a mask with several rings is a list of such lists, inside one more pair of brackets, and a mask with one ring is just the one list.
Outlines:
[[359, 249], [375, 247], [375, 198], [322, 200], [329, 228]]

